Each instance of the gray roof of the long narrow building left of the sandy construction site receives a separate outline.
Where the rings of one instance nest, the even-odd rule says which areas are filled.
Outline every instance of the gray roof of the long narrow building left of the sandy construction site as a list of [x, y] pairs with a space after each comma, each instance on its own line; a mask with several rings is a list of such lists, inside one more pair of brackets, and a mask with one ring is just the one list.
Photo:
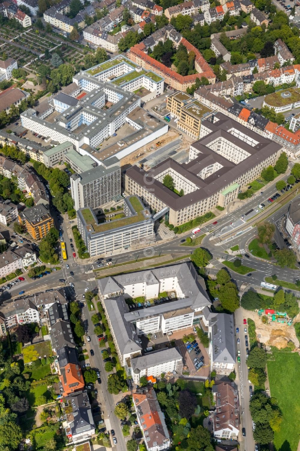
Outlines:
[[236, 346], [233, 315], [218, 313], [212, 324], [213, 362], [235, 364]]

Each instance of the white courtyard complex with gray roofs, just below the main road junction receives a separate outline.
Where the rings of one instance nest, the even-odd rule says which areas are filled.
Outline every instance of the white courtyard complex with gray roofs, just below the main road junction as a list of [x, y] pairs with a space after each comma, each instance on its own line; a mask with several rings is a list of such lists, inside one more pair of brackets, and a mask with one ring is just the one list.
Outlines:
[[[194, 321], [198, 322], [203, 315], [202, 310], [210, 305], [191, 263], [105, 277], [97, 282], [99, 296], [107, 313], [110, 329], [114, 331], [114, 343], [123, 365], [127, 358], [140, 354], [140, 335], [185, 330]], [[165, 291], [173, 292], [177, 300], [135, 310], [130, 310], [125, 302], [125, 299], [141, 296], [153, 299]], [[133, 348], [128, 345], [126, 350], [123, 349], [127, 341], [124, 341], [125, 333], [119, 331], [121, 323], [123, 328], [126, 327], [129, 337], [132, 337], [134, 331], [134, 338], [131, 338], [135, 343]]]

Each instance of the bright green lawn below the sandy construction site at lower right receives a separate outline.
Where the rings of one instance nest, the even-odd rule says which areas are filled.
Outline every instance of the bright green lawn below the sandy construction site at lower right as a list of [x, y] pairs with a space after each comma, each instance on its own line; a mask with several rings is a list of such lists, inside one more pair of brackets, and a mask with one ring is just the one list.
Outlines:
[[274, 449], [296, 451], [299, 443], [300, 404], [300, 356], [299, 354], [274, 351], [268, 360], [268, 378], [271, 396], [278, 401], [282, 411], [280, 432], [274, 433]]

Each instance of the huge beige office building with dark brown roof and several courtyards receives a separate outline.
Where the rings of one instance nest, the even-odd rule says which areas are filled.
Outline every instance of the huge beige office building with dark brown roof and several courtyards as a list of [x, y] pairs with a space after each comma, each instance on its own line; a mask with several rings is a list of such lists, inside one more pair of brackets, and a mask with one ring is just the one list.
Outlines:
[[[277, 143], [217, 113], [202, 121], [200, 140], [191, 144], [187, 164], [168, 158], [147, 172], [132, 166], [125, 174], [125, 189], [157, 212], [165, 209], [169, 223], [180, 226], [217, 205], [226, 207], [241, 188], [275, 164], [281, 150]], [[164, 188], [167, 174], [176, 190], [183, 190], [182, 197]]]

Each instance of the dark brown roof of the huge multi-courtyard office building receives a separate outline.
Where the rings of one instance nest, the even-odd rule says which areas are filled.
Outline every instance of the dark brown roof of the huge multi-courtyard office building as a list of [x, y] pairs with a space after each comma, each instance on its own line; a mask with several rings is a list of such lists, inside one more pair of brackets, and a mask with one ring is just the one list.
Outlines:
[[[242, 108], [242, 106], [234, 104], [229, 110], [238, 115], [238, 111], [241, 111]], [[246, 129], [243, 125], [227, 118], [222, 113], [217, 113], [215, 118], [218, 120], [214, 123], [209, 120], [203, 121], [203, 125], [209, 128], [211, 133], [192, 144], [192, 146], [200, 152], [199, 156], [194, 160], [182, 165], [172, 158], [168, 158], [157, 166], [154, 166], [149, 175], [138, 166], [130, 167], [126, 171], [126, 175], [145, 189], [150, 187], [149, 189], [151, 189], [151, 193], [154, 194], [155, 197], [159, 198], [168, 207], [178, 211], [188, 205], [199, 202], [202, 199], [209, 198], [214, 193], [218, 193], [227, 188], [241, 175], [245, 174], [245, 172], [254, 168], [261, 161], [266, 160], [281, 148], [277, 143], [270, 141], [268, 138], [264, 138], [250, 129]], [[251, 147], [241, 139], [236, 138], [232, 133], [229, 133], [232, 128], [253, 138], [257, 144], [254, 147]], [[238, 147], [246, 150], [250, 156], [238, 164], [232, 163], [208, 147], [212, 141], [218, 138], [224, 138], [227, 141], [236, 144]], [[198, 176], [200, 171], [208, 166], [208, 164], [213, 164], [215, 162], [220, 163], [223, 166], [222, 169], [214, 172], [214, 174], [210, 175], [205, 180], [201, 179]], [[172, 169], [183, 177], [186, 177], [188, 180], [191, 180], [198, 189], [182, 197], [179, 197], [176, 193], [173, 193], [173, 191], [166, 189], [161, 182], [155, 179], [155, 176], [158, 176], [164, 170], [168, 169]]]

